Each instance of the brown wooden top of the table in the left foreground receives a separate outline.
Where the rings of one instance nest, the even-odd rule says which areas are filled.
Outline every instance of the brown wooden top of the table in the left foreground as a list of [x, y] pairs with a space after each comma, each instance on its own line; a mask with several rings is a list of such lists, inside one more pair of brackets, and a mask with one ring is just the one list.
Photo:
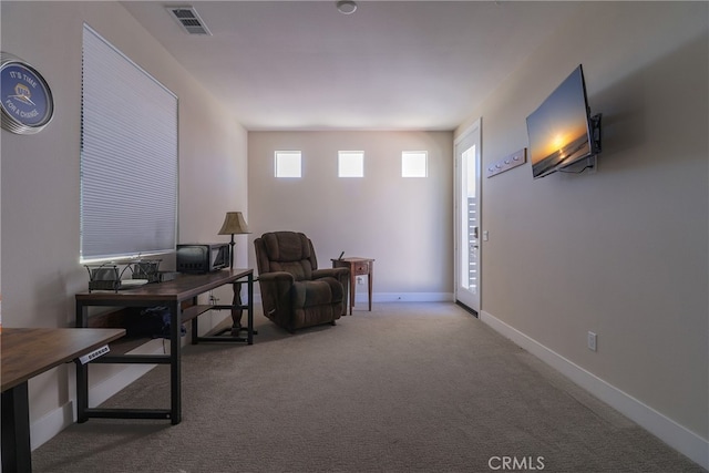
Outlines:
[[2, 391], [125, 335], [124, 329], [2, 328]]

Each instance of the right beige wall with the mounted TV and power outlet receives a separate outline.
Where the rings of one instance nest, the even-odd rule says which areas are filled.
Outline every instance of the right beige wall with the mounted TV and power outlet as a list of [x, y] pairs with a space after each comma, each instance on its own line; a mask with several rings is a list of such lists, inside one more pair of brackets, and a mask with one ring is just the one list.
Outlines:
[[484, 168], [528, 145], [525, 117], [583, 63], [604, 114], [598, 168], [484, 179], [483, 319], [678, 424], [705, 466], [707, 23], [706, 2], [585, 3], [469, 120], [482, 117]]

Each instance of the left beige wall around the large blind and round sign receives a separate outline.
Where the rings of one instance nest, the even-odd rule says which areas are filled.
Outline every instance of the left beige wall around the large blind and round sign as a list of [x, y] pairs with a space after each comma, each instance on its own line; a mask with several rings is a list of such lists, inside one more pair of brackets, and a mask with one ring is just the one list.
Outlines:
[[[54, 119], [41, 133], [1, 134], [2, 322], [71, 327], [74, 294], [88, 288], [79, 264], [82, 23], [178, 96], [181, 241], [226, 241], [217, 236], [225, 213], [246, 212], [246, 131], [119, 3], [3, 1], [0, 8], [2, 51], [34, 65], [55, 101]], [[246, 251], [236, 260], [246, 265]], [[164, 263], [174, 268], [174, 257]], [[96, 368], [91, 389], [127, 369]], [[58, 428], [71, 421], [73, 366], [32, 379], [29, 391], [37, 445], [52, 434], [40, 419], [58, 417]]]

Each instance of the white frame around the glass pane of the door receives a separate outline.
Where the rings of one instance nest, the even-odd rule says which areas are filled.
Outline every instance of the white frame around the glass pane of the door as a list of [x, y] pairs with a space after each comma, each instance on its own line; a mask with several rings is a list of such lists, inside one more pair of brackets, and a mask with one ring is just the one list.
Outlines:
[[[467, 127], [465, 131], [463, 131], [463, 133], [461, 133], [454, 141], [453, 143], [453, 153], [454, 153], [454, 161], [455, 161], [455, 185], [454, 187], [454, 197], [453, 197], [453, 212], [454, 212], [454, 271], [455, 271], [455, 276], [453, 278], [454, 284], [455, 284], [455, 289], [454, 289], [454, 298], [455, 301], [459, 304], [462, 304], [463, 306], [467, 307], [469, 309], [472, 309], [475, 313], [480, 312], [480, 308], [481, 308], [481, 288], [482, 288], [482, 271], [480, 270], [481, 268], [481, 261], [482, 261], [482, 245], [480, 245], [481, 241], [481, 236], [482, 236], [482, 232], [481, 232], [481, 223], [482, 223], [482, 205], [481, 205], [481, 185], [482, 185], [482, 178], [481, 178], [481, 161], [482, 161], [482, 152], [481, 152], [481, 140], [482, 140], [482, 133], [481, 133], [481, 123], [482, 119], [477, 119], [470, 127]], [[462, 153], [466, 150], [461, 150], [460, 146], [464, 145], [466, 148], [467, 146], [475, 146], [475, 155], [474, 155], [474, 163], [473, 165], [475, 166], [475, 204], [476, 204], [476, 213], [475, 213], [475, 233], [476, 235], [470, 235], [465, 241], [463, 241], [463, 225], [465, 225], [465, 228], [467, 228], [469, 226], [469, 222], [463, 223], [463, 209], [461, 208], [461, 203], [463, 200], [463, 189], [461, 186], [462, 183], [462, 173], [463, 173], [463, 166], [462, 166]], [[467, 215], [467, 210], [466, 215]], [[467, 234], [466, 234], [467, 235]], [[474, 286], [471, 288], [469, 284], [463, 284], [462, 280], [462, 274], [464, 268], [462, 268], [462, 261], [463, 261], [463, 253], [462, 251], [467, 251], [467, 257], [466, 260], [469, 260], [470, 263], [474, 263], [473, 266], [476, 267], [475, 270], [475, 284]], [[469, 265], [470, 266], [470, 265]]]

